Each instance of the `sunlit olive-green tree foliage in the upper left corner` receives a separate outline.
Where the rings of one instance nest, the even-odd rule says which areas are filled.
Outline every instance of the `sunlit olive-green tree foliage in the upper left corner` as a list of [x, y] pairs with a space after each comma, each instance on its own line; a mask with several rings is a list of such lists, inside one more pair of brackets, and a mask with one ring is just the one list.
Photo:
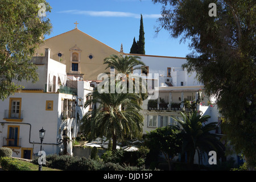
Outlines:
[[6, 0], [0, 3], [0, 99], [23, 86], [22, 80], [38, 81], [36, 65], [31, 58], [35, 49], [43, 43], [42, 36], [50, 33], [51, 23], [38, 16], [39, 3], [51, 7], [44, 0]]

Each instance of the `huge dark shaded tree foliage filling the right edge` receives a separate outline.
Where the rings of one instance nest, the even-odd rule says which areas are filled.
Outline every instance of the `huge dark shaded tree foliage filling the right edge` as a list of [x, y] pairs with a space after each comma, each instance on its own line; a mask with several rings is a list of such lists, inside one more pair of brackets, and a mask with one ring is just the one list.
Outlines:
[[[160, 29], [191, 40], [189, 72], [196, 71], [208, 94], [216, 94], [226, 139], [255, 166], [256, 2], [253, 0], [152, 0], [162, 3]], [[209, 16], [215, 3], [217, 16]]]

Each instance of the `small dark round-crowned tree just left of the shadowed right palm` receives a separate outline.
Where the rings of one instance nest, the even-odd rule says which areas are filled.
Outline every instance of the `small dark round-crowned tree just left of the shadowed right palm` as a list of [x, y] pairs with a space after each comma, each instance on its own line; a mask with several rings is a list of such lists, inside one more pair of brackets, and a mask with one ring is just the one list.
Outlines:
[[147, 146], [151, 149], [158, 149], [163, 152], [169, 169], [171, 170], [171, 160], [181, 153], [182, 134], [174, 126], [160, 127], [146, 134]]

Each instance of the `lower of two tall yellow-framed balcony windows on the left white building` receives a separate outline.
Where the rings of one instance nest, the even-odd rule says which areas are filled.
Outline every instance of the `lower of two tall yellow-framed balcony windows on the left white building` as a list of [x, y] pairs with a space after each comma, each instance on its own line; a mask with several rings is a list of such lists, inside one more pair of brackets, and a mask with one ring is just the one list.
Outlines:
[[7, 146], [19, 146], [19, 126], [8, 126]]

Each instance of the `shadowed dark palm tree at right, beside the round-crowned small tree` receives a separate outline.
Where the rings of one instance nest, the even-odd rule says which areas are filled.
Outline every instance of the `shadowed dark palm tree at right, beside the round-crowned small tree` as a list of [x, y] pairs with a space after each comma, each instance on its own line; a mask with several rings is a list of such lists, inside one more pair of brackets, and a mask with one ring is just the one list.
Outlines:
[[[200, 153], [209, 151], [216, 151], [217, 154], [222, 155], [225, 147], [224, 144], [220, 142], [216, 134], [210, 133], [210, 131], [215, 130], [216, 122], [211, 122], [205, 124], [210, 118], [209, 115], [201, 116], [197, 111], [192, 113], [180, 113], [183, 121], [172, 117], [175, 121], [179, 122], [181, 125], [181, 131], [184, 133], [183, 139], [183, 152], [187, 152], [188, 163], [193, 164], [194, 157], [197, 151], [199, 155], [200, 163]], [[179, 127], [179, 126], [178, 126]]]

